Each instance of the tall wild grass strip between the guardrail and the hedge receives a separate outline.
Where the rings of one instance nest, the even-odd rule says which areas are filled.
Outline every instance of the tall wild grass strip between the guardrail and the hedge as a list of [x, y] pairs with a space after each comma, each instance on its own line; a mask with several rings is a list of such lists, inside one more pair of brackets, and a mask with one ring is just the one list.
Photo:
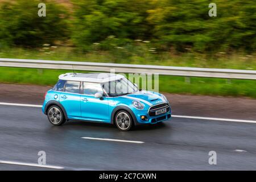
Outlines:
[[256, 70], [256, 55], [246, 55], [243, 52], [218, 52], [211, 55], [198, 52], [180, 54], [171, 52], [151, 53], [145, 46], [116, 48], [110, 51], [94, 50], [88, 53], [63, 46], [42, 46], [42, 48], [38, 49], [6, 48], [0, 49], [0, 57]]

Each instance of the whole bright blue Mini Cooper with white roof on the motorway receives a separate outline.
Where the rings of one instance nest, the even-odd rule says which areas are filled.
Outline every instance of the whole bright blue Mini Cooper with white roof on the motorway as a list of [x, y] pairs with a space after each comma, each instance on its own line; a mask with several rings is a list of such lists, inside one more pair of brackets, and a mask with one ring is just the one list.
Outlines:
[[160, 93], [139, 90], [125, 76], [113, 73], [65, 73], [45, 95], [42, 107], [52, 125], [67, 120], [113, 123], [119, 130], [171, 118]]

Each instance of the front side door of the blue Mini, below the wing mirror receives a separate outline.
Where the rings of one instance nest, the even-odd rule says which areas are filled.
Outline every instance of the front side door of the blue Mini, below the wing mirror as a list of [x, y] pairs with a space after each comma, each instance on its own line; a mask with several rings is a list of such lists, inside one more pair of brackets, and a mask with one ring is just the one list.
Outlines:
[[82, 82], [81, 117], [91, 121], [110, 122], [108, 98], [95, 98], [103, 94], [100, 83]]

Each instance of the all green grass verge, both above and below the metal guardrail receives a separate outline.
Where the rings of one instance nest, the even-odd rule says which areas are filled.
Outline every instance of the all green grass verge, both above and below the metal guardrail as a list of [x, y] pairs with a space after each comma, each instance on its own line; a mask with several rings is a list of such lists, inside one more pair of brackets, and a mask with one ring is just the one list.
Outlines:
[[[228, 54], [218, 52], [214, 55], [205, 55], [203, 53], [187, 52], [175, 55], [168, 52], [151, 53], [148, 52], [145, 46], [138, 46], [137, 48], [128, 47], [111, 51], [98, 51], [96, 49], [89, 53], [82, 53], [75, 48], [63, 46], [42, 46], [38, 49], [8, 48], [0, 49], [0, 57], [256, 70], [255, 55], [246, 55], [246, 53]], [[53, 85], [58, 76], [66, 72], [72, 71], [2, 67], [0, 68], [0, 82]], [[227, 81], [218, 78], [191, 77], [191, 82], [187, 83], [184, 77], [159, 76], [159, 90], [160, 92], [179, 94], [256, 98], [256, 81]]]

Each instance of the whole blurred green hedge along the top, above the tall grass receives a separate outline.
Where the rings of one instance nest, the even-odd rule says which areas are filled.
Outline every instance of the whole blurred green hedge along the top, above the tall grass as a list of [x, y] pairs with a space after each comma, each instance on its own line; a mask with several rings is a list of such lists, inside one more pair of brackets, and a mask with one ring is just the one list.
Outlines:
[[250, 53], [256, 48], [254, 0], [216, 0], [217, 17], [209, 17], [206, 0], [73, 0], [68, 11], [52, 0], [43, 1], [44, 18], [37, 16], [40, 2], [1, 3], [2, 45], [35, 47], [67, 39], [85, 51], [118, 47], [133, 52], [139, 43], [134, 40], [168, 52]]

